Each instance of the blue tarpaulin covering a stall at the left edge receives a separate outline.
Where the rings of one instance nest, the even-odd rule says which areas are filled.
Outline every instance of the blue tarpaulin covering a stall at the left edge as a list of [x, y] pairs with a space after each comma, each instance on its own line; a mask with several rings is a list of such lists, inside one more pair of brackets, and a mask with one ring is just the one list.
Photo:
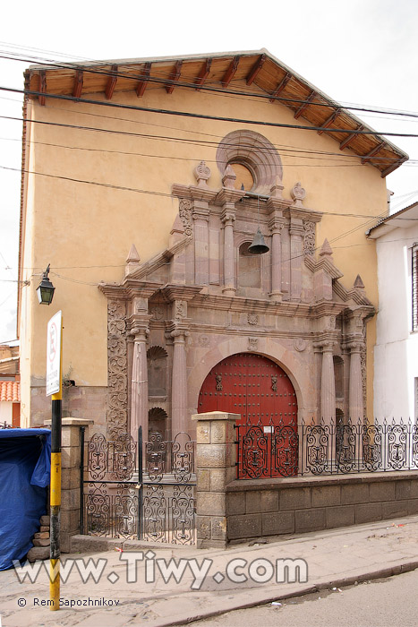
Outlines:
[[23, 559], [47, 513], [49, 429], [0, 429], [0, 571]]

